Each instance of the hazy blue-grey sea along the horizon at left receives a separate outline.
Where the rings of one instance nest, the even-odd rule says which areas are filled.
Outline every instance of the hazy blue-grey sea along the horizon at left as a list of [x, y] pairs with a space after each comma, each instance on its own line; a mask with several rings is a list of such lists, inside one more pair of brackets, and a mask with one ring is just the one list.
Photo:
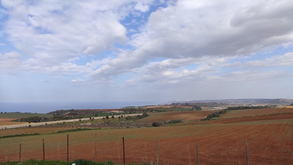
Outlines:
[[134, 102], [0, 102], [0, 112], [21, 112], [21, 113], [49, 113], [55, 110], [69, 109], [119, 109], [128, 106], [148, 106], [159, 105], [154, 101], [134, 101]]

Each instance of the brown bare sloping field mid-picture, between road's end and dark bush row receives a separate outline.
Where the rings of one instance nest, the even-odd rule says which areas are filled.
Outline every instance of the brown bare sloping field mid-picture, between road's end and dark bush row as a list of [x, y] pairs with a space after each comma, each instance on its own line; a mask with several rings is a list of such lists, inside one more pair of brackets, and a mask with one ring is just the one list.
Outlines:
[[170, 112], [159, 112], [151, 113], [147, 118], [142, 118], [135, 121], [134, 123], [153, 123], [156, 121], [167, 121], [171, 119], [182, 119], [183, 121], [188, 120], [201, 120], [207, 117], [207, 115], [219, 112], [219, 110], [188, 110], [188, 111], [170, 111]]

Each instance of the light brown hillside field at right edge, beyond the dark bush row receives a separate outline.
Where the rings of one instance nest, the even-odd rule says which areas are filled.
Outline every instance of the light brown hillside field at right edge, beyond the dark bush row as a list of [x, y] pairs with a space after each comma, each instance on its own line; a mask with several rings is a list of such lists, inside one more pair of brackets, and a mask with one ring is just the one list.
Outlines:
[[245, 109], [232, 110], [229, 113], [221, 115], [219, 118], [239, 118], [258, 115], [269, 115], [276, 113], [293, 113], [293, 108], [268, 108], [268, 109]]

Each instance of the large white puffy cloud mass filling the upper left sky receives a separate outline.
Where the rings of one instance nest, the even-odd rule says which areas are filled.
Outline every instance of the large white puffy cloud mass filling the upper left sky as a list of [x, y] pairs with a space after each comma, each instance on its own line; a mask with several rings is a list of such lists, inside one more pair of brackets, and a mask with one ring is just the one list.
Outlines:
[[[115, 44], [126, 44], [127, 29], [119, 22], [148, 11], [152, 1], [1, 1], [6, 9], [7, 40], [31, 67], [62, 68], [81, 55], [98, 56]], [[1, 10], [3, 11], [3, 10]], [[78, 69], [78, 68], [76, 68]], [[54, 72], [54, 69], [52, 69]], [[62, 72], [62, 70], [60, 70]]]

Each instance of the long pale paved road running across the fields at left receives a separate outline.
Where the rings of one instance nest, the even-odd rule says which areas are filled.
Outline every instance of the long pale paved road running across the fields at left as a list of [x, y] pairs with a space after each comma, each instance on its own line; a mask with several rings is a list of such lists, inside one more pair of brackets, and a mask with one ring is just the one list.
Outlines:
[[[129, 115], [125, 115], [125, 116], [135, 116], [135, 115], [142, 115], [142, 113], [137, 113], [137, 114], [129, 114]], [[114, 115], [114, 117], [118, 117], [121, 115]], [[103, 117], [106, 116], [102, 116], [102, 117], [94, 117], [94, 119], [102, 119]], [[82, 118], [82, 121], [86, 122], [86, 120], [90, 120], [90, 118]], [[63, 123], [63, 122], [71, 122], [71, 121], [79, 121], [79, 119], [71, 119], [71, 120], [59, 120], [59, 121], [48, 121], [48, 122], [42, 122], [42, 123], [30, 123], [30, 124], [15, 124], [15, 125], [2, 125], [0, 126], [0, 129], [4, 129], [4, 128], [15, 128], [15, 127], [25, 127], [25, 126], [35, 126], [35, 125], [45, 125], [47, 124], [54, 124], [54, 123]], [[21, 122], [20, 122], [21, 123]]]

